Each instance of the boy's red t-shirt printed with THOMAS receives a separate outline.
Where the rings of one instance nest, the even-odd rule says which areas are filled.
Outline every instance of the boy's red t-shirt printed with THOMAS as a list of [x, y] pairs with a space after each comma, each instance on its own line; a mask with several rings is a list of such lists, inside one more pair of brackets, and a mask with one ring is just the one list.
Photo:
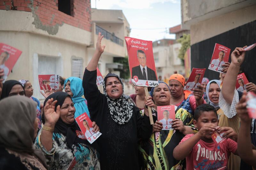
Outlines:
[[[193, 135], [186, 135], [180, 143]], [[237, 143], [229, 138], [221, 144], [215, 142], [206, 143], [203, 140], [199, 140], [186, 157], [186, 170], [227, 170], [230, 152], [235, 153], [236, 149]]]

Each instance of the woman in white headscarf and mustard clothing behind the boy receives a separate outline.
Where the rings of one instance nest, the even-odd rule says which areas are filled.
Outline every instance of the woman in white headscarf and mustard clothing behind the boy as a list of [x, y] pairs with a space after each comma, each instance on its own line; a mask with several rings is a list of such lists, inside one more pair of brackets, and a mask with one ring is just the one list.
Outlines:
[[[206, 86], [206, 95], [209, 101], [209, 104], [212, 105], [218, 114], [219, 126], [220, 127], [230, 127], [234, 129], [236, 134], [239, 132], [239, 117], [237, 115], [228, 118], [224, 115], [223, 110], [219, 106], [219, 96], [220, 96], [220, 80], [211, 80]], [[230, 87], [231, 88], [231, 87]], [[240, 158], [239, 156], [231, 153], [228, 161], [228, 169], [238, 170], [240, 167]]]

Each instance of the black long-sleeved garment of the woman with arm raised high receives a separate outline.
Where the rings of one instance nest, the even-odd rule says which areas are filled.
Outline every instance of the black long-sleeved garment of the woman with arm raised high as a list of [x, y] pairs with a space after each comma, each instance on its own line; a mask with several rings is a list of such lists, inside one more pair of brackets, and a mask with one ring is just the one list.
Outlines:
[[[149, 117], [140, 115], [133, 107], [129, 122], [119, 125], [110, 115], [107, 98], [96, 85], [97, 71], [85, 69], [83, 78], [84, 97], [87, 100], [91, 120], [95, 121], [102, 135], [97, 139], [100, 145], [101, 169], [139, 169], [138, 139], [148, 139], [152, 134]], [[154, 117], [156, 121], [156, 117]]]

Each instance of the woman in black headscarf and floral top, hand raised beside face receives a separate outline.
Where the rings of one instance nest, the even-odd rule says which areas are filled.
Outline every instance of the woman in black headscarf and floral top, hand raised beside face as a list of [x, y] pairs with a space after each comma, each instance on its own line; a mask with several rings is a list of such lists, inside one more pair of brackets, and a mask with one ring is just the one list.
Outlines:
[[[80, 131], [77, 125], [74, 103], [65, 92], [56, 92], [44, 101], [43, 128], [39, 131], [35, 145], [44, 152], [50, 169], [67, 169], [72, 159], [76, 157], [74, 169], [100, 170], [99, 153], [85, 139], [76, 135]], [[99, 130], [92, 123], [94, 132]]]

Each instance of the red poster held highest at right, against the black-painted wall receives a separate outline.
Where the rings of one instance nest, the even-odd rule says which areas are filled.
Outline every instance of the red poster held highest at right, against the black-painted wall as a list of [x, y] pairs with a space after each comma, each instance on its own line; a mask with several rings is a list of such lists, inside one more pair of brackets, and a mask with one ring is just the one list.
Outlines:
[[230, 48], [215, 43], [212, 59], [208, 69], [223, 73], [223, 71], [221, 71], [224, 68], [222, 64], [228, 62], [229, 54]]

